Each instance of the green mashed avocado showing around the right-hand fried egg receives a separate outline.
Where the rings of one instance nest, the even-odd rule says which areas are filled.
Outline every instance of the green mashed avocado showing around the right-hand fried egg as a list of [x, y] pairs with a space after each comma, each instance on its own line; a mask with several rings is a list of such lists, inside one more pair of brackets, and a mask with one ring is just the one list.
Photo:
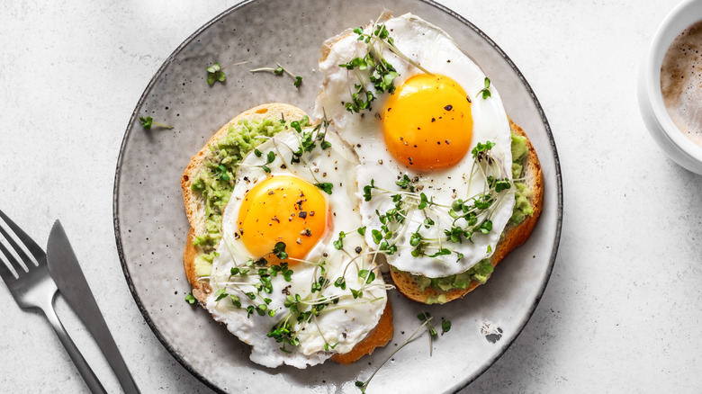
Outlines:
[[[527, 184], [520, 182], [522, 170], [524, 169], [522, 161], [527, 157], [527, 153], [527, 138], [512, 133], [512, 179], [516, 190], [511, 222], [515, 225], [521, 223], [527, 216], [534, 214], [534, 210], [529, 203], [532, 191], [527, 187]], [[491, 259], [486, 258], [464, 273], [440, 278], [412, 275], [412, 278], [419, 284], [419, 291], [424, 291], [428, 286], [440, 291], [449, 291], [451, 289], [466, 289], [471, 284], [471, 281], [481, 284], [485, 283], [492, 273], [492, 269]], [[438, 297], [429, 297], [427, 300], [428, 304], [443, 304], [444, 302], [446, 302], [444, 294], [439, 294]]]

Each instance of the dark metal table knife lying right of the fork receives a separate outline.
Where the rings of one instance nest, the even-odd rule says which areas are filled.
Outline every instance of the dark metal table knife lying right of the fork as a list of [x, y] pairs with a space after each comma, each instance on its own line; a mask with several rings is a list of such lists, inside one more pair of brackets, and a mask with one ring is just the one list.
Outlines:
[[120, 349], [114, 343], [110, 329], [105, 324], [103, 314], [95, 302], [93, 292], [85, 281], [85, 275], [78, 264], [66, 231], [61, 222], [56, 220], [49, 233], [49, 245], [46, 250], [49, 273], [58, 287], [58, 291], [67, 300], [68, 305], [83, 321], [95, 342], [103, 351], [107, 363], [117, 376], [122, 390], [127, 394], [139, 394], [139, 389], [131, 377], [127, 365], [121, 357]]

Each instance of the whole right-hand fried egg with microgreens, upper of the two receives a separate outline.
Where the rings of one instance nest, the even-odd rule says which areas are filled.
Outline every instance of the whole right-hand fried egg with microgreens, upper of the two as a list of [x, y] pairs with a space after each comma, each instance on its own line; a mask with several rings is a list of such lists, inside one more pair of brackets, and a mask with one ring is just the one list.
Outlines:
[[[360, 40], [347, 31], [325, 43], [315, 114], [326, 113], [359, 157], [366, 242], [401, 271], [463, 273], [492, 255], [512, 214], [509, 121], [495, 86], [445, 31], [409, 13], [384, 25], [423, 70], [373, 38], [381, 24], [365, 27]], [[398, 74], [392, 94], [378, 92], [367, 71], [346, 67], [369, 60], [369, 48], [368, 67], [380, 54]], [[353, 94], [363, 102], [367, 92], [370, 110], [349, 111]]]

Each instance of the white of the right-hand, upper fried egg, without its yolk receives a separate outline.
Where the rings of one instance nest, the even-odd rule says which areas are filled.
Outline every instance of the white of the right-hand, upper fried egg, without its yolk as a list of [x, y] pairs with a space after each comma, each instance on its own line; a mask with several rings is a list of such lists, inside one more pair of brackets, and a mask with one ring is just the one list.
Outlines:
[[[485, 143], [487, 140], [495, 143], [491, 151], [500, 160], [500, 166], [504, 172], [510, 175], [512, 155], [509, 121], [502, 106], [500, 94], [494, 84], [490, 87], [490, 98], [478, 97], [485, 87], [486, 76], [481, 68], [455, 45], [455, 42], [445, 31], [418, 16], [407, 13], [388, 20], [385, 25], [390, 31], [395, 46], [407, 57], [415, 60], [432, 73], [451, 77], [464, 88], [472, 100], [473, 139], [464, 159], [457, 165], [444, 170], [413, 171], [392, 157], [392, 154], [385, 148], [382, 113], [380, 113], [383, 111], [389, 94], [376, 94], [377, 99], [371, 105], [372, 112], [351, 113], [344, 106], [344, 102], [351, 101], [350, 88], [353, 88], [358, 81], [354, 71], [349, 71], [338, 65], [345, 64], [356, 57], [363, 57], [367, 52], [365, 42], [356, 40], [357, 34], [347, 31], [341, 35], [340, 39], [333, 38], [327, 43], [330, 46], [329, 55], [323, 62], [320, 62], [320, 70], [325, 76], [325, 80], [315, 104], [315, 113], [318, 116], [321, 116], [321, 113], [326, 113], [341, 138], [356, 150], [360, 160], [357, 169], [359, 195], [363, 187], [371, 184], [372, 180], [380, 188], [400, 192], [401, 189], [395, 182], [401, 175], [409, 175], [412, 179], [418, 177], [419, 183], [416, 185], [421, 185], [422, 193], [426, 193], [435, 202], [448, 206], [456, 198], [465, 199], [467, 196], [481, 193], [485, 179], [480, 175], [473, 177], [470, 188], [468, 185], [473, 166], [470, 150], [479, 142]], [[371, 33], [372, 29], [374, 28], [366, 27], [365, 32]], [[383, 51], [383, 57], [400, 74], [394, 80], [395, 86], [400, 86], [411, 76], [421, 73], [419, 69], [398, 58], [388, 49]], [[366, 89], [374, 92], [374, 87], [370, 82], [366, 85]], [[375, 245], [371, 229], [382, 226], [375, 212], [378, 210], [383, 213], [394, 207], [391, 195], [392, 193], [378, 194], [374, 195], [371, 201], [361, 201], [362, 220], [369, 229], [366, 232], [366, 241], [371, 246]], [[514, 187], [500, 200], [492, 214], [493, 229], [489, 234], [473, 234], [471, 241], [464, 240], [460, 244], [450, 243], [446, 240], [446, 246], [450, 245], [452, 250], [455, 250], [455, 255], [438, 256], [437, 258], [428, 257], [428, 255], [414, 257], [410, 255], [414, 247], [410, 246], [408, 232], [396, 244], [398, 252], [387, 256], [388, 263], [402, 271], [428, 277], [463, 273], [491, 256], [500, 240], [502, 229], [511, 217], [513, 206]], [[430, 228], [422, 226], [419, 231], [422, 237], [446, 238], [443, 230], [451, 227], [453, 219], [446, 210], [443, 212], [431, 210], [429, 216], [438, 225]], [[424, 219], [424, 214], [419, 210], [410, 212], [410, 218], [407, 219], [410, 223], [408, 229], [414, 231]], [[463, 258], [457, 259], [458, 253], [463, 254]]]

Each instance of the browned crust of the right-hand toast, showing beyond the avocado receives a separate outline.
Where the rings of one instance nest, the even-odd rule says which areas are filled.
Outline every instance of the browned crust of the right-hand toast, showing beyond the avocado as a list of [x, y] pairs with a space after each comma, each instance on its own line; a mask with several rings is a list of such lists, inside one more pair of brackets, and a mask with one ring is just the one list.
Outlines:
[[[532, 216], [527, 216], [527, 218], [518, 225], [514, 225], [511, 222], [508, 223], [503, 232], [503, 236], [500, 238], [500, 242], [495, 247], [495, 252], [492, 254], [491, 264], [493, 267], [500, 264], [502, 259], [504, 259], [509, 252], [527, 241], [527, 238], [531, 235], [531, 232], [536, 226], [544, 204], [544, 174], [542, 173], [539, 158], [536, 155], [536, 149], [534, 149], [531, 141], [529, 141], [527, 133], [511, 119], [509, 119], [509, 129], [514, 134], [527, 138], [528, 153], [523, 161], [524, 175], [527, 185], [532, 190], [529, 201], [534, 210], [534, 214]], [[394, 269], [391, 269], [390, 273], [395, 287], [401, 291], [402, 294], [410, 300], [423, 303], [429, 303], [429, 300], [437, 300], [439, 296], [445, 297], [445, 302], [457, 300], [463, 298], [481, 284], [480, 282], [472, 281], [465, 289], [451, 289], [448, 291], [442, 291], [427, 286], [424, 291], [420, 291], [419, 283], [414, 280], [411, 273], [396, 271]]]

